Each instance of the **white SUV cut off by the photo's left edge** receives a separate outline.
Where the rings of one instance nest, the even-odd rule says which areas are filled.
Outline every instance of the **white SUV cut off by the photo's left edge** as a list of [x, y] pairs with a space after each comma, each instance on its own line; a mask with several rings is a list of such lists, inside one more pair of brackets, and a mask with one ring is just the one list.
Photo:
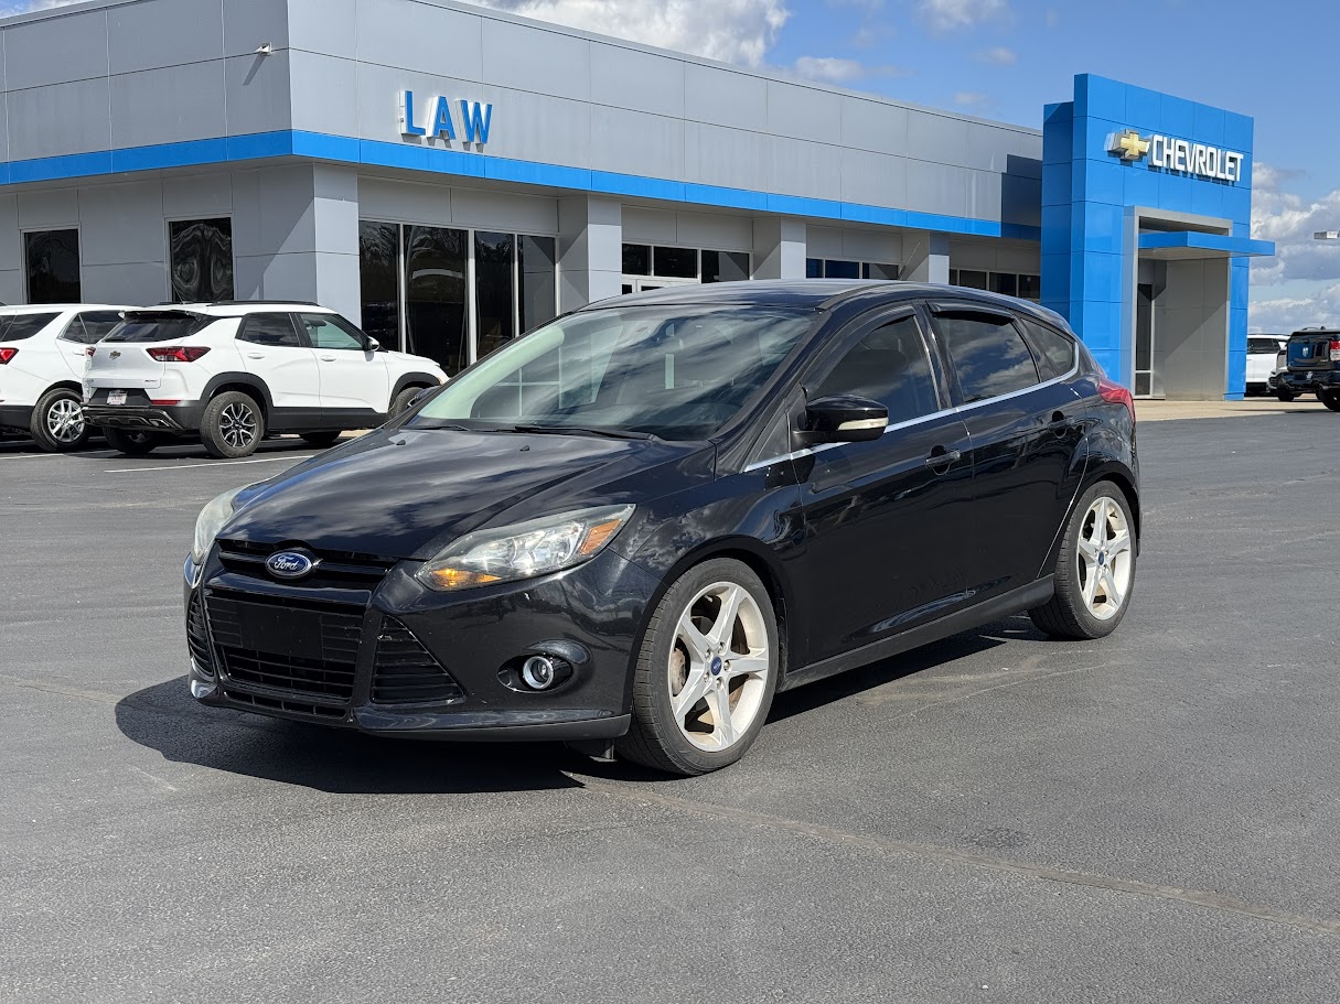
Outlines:
[[121, 324], [125, 307], [0, 307], [0, 428], [21, 430], [48, 452], [75, 450], [92, 431], [79, 406], [84, 353]]

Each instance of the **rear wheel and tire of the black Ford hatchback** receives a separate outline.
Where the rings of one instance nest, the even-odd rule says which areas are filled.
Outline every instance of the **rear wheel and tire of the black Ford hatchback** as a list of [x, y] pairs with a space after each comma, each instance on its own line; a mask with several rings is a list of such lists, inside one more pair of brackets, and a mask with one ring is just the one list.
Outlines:
[[1065, 525], [1056, 556], [1056, 593], [1028, 616], [1055, 639], [1111, 635], [1131, 605], [1135, 552], [1135, 521], [1126, 495], [1110, 481], [1097, 482], [1080, 497]]

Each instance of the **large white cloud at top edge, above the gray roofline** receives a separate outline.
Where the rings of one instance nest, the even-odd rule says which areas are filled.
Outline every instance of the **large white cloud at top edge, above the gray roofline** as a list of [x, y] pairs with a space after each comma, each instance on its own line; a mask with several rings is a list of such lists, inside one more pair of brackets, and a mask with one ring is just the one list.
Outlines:
[[524, 17], [725, 63], [761, 66], [787, 23], [785, 0], [476, 0]]

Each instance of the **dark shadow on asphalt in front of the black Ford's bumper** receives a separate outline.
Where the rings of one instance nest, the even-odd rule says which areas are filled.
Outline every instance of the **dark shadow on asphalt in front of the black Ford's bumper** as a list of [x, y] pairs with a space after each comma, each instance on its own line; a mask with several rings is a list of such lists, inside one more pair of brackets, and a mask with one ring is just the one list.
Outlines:
[[580, 787], [582, 762], [553, 743], [444, 743], [370, 736], [245, 711], [205, 708], [186, 679], [117, 703], [117, 727], [176, 763], [331, 794], [469, 794]]

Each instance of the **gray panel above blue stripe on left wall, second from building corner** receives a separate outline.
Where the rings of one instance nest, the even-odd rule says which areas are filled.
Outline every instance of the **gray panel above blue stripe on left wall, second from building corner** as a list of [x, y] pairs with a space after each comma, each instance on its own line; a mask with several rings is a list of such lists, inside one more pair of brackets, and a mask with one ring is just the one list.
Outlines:
[[221, 59], [111, 78], [114, 147], [209, 139], [224, 131]]

